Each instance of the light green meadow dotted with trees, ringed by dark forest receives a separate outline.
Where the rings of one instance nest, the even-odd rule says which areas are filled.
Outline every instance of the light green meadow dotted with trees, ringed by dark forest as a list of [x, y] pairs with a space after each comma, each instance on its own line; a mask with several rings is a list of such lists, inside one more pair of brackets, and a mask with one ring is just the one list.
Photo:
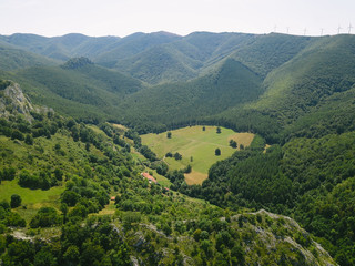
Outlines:
[[[237, 145], [248, 146], [254, 139], [251, 133], [236, 133], [232, 130], [221, 127], [221, 133], [216, 133], [216, 126], [191, 126], [171, 131], [172, 137], [166, 137], [166, 132], [161, 134], [141, 135], [142, 143], [148, 145], [160, 158], [163, 158], [171, 170], [180, 170], [192, 166], [192, 173], [185, 175], [187, 184], [201, 184], [209, 173], [212, 164], [231, 156], [236, 150], [232, 149], [230, 140], [236, 141]], [[215, 149], [221, 150], [221, 155], [216, 156]], [[181, 161], [165, 157], [168, 153], [179, 152]]]

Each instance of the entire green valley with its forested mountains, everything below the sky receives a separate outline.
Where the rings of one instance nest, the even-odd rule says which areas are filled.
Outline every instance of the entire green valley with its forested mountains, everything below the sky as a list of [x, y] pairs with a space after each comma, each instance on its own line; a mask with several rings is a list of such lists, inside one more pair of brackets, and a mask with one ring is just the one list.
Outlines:
[[0, 35], [0, 264], [354, 265], [354, 43]]

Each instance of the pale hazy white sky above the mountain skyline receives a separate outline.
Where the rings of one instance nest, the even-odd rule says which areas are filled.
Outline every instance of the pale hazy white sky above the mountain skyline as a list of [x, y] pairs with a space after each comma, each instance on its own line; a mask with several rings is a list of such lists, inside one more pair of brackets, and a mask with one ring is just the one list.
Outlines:
[[[0, 0], [0, 34], [193, 31], [320, 35], [355, 27], [355, 0]], [[352, 29], [355, 33], [355, 29]]]

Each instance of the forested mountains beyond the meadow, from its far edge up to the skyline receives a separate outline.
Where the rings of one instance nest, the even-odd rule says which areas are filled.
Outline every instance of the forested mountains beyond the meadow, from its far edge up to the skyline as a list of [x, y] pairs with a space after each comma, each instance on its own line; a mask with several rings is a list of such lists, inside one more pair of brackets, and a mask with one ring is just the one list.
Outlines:
[[[217, 123], [270, 143], [311, 125], [344, 132], [353, 124], [353, 35], [14, 34], [0, 42], [8, 54], [1, 76], [21, 83], [34, 102], [83, 121], [115, 121], [141, 133]], [[92, 64], [48, 66], [55, 61], [43, 55], [65, 62], [85, 55]]]

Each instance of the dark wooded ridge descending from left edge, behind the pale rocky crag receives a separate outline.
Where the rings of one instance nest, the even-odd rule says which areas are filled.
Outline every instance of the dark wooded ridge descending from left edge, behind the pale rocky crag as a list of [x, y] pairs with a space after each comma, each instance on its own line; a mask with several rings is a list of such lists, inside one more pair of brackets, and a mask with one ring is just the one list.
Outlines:
[[114, 119], [116, 103], [142, 89], [140, 81], [94, 64], [29, 68], [2, 76], [21, 83], [34, 103], [87, 121]]

